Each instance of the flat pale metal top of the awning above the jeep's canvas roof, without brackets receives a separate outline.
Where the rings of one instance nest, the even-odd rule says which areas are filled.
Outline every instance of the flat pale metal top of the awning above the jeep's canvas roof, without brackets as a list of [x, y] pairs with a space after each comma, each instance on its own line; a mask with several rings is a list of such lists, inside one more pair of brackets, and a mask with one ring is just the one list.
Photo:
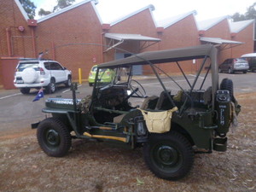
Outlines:
[[112, 38], [118, 41], [122, 40], [137, 40], [137, 41], [157, 41], [159, 42], [160, 38], [151, 38], [148, 36], [143, 36], [141, 34], [124, 34], [124, 33], [106, 33], [105, 38]]

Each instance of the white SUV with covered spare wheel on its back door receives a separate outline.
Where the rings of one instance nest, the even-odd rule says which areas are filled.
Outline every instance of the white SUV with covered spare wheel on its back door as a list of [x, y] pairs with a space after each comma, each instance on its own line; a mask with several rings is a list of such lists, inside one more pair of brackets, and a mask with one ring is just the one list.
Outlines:
[[28, 94], [31, 88], [41, 87], [54, 93], [55, 84], [71, 85], [71, 71], [57, 61], [24, 59], [16, 67], [14, 84], [23, 94]]

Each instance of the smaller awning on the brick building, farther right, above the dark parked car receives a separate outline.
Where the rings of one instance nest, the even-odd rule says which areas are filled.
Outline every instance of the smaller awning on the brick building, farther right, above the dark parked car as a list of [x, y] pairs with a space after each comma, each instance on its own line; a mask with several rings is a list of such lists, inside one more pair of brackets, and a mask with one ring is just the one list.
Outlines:
[[201, 42], [205, 42], [207, 44], [213, 44], [215, 47], [219, 47], [220, 49], [230, 49], [244, 44], [239, 41], [226, 40], [223, 38], [200, 38], [200, 40]]

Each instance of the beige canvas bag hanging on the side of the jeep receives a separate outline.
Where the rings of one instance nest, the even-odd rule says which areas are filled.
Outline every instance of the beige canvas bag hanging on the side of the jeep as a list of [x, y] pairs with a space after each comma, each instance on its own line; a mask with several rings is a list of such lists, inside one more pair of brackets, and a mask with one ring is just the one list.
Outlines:
[[166, 111], [150, 112], [138, 108], [143, 113], [149, 132], [163, 133], [171, 130], [172, 113], [177, 111], [177, 107]]

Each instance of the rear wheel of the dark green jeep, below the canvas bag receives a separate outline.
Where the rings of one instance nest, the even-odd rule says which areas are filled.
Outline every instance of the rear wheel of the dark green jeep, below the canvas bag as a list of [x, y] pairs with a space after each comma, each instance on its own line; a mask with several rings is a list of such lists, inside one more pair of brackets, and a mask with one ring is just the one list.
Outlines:
[[187, 175], [194, 163], [194, 152], [186, 137], [176, 131], [152, 134], [143, 146], [144, 160], [157, 177], [177, 180]]

